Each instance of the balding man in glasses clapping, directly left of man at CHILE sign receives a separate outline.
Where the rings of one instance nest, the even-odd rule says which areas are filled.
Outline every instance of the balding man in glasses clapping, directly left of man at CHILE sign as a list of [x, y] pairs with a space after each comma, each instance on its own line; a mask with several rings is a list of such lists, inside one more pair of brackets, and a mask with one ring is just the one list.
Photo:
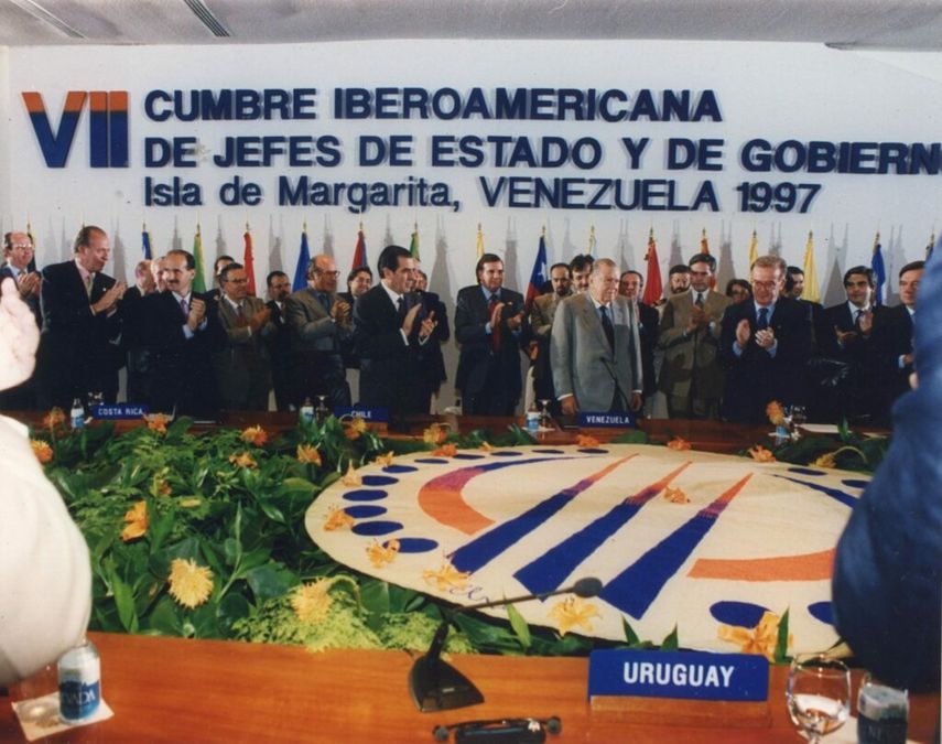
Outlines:
[[350, 303], [337, 296], [340, 272], [329, 256], [321, 254], [307, 266], [307, 287], [285, 300], [288, 322], [294, 334], [297, 399], [327, 396], [331, 408], [350, 405], [342, 343], [353, 334]]

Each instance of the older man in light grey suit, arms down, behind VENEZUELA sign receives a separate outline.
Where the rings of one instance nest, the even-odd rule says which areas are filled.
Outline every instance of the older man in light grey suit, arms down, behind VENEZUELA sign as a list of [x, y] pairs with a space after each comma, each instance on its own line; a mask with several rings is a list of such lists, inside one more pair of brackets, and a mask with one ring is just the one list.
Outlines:
[[638, 319], [618, 295], [615, 261], [595, 261], [588, 292], [566, 298], [556, 309], [550, 357], [563, 414], [641, 407]]

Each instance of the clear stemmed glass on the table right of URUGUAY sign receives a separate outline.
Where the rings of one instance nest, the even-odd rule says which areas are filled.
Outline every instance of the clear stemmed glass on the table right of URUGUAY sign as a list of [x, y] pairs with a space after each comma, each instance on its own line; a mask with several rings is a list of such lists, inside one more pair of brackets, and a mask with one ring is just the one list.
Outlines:
[[819, 742], [851, 714], [851, 670], [821, 654], [797, 656], [788, 672], [786, 699], [802, 736]]

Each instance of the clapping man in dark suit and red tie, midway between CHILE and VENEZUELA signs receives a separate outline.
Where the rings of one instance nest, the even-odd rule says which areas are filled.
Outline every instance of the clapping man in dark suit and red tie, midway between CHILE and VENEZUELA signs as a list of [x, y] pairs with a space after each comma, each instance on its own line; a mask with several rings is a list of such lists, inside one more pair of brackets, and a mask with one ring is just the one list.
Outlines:
[[520, 400], [520, 352], [529, 342], [523, 295], [504, 287], [504, 261], [478, 259], [477, 284], [458, 292], [455, 339], [461, 344], [456, 387], [466, 416], [512, 416]]

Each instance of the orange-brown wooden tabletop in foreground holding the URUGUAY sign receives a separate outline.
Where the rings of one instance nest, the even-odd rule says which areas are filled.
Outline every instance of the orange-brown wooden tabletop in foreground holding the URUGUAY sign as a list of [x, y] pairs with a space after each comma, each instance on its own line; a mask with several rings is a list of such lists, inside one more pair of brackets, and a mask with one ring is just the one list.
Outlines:
[[[802, 741], [786, 710], [784, 667], [771, 671], [768, 726], [734, 727], [732, 703], [711, 704], [715, 722], [710, 726], [671, 725], [670, 713], [654, 725], [639, 725], [627, 722], [621, 712], [589, 707], [584, 658], [456, 655], [451, 661], [478, 686], [485, 702], [420, 713], [408, 692], [412, 657], [405, 651], [314, 654], [221, 640], [105, 633], [90, 637], [101, 654], [102, 694], [115, 716], [50, 741], [431, 743], [438, 724], [551, 715], [562, 720], [562, 733], [548, 741], [561, 744]], [[855, 687], [858, 678], [855, 673]], [[914, 696], [909, 737], [930, 741], [938, 716], [938, 697]], [[3, 698], [0, 741], [24, 741]]]

